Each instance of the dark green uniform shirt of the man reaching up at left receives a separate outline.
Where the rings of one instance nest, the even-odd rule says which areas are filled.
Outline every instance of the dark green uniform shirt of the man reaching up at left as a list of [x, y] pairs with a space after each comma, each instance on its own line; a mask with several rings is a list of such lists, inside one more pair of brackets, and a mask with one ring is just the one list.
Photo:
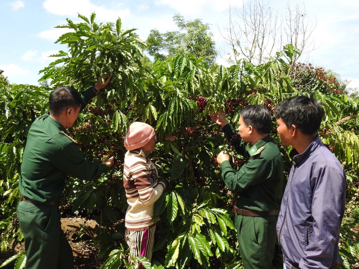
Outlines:
[[[95, 94], [94, 87], [81, 93], [81, 110]], [[19, 189], [26, 198], [53, 202], [61, 198], [66, 175], [90, 180], [107, 170], [106, 163], [98, 164], [85, 158], [64, 126], [46, 113], [37, 118], [29, 130]]]

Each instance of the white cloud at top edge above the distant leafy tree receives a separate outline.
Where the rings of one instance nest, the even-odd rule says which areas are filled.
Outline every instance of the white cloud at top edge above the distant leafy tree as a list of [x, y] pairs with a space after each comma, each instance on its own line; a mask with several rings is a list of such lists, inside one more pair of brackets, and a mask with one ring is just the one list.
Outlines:
[[158, 5], [169, 6], [177, 12], [186, 14], [201, 14], [204, 10], [225, 11], [231, 6], [242, 6], [243, 0], [157, 0]]

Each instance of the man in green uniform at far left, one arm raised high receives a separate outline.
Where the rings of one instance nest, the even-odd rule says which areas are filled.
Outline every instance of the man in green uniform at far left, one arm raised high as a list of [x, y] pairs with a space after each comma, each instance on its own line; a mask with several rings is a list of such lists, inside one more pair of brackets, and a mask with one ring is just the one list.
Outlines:
[[65, 176], [98, 178], [114, 161], [113, 157], [99, 164], [89, 161], [66, 129], [73, 126], [88, 100], [108, 82], [109, 77], [104, 83], [99, 77], [96, 85], [81, 94], [67, 87], [53, 90], [50, 114], [43, 114], [31, 125], [21, 164], [22, 197], [17, 208], [25, 241], [25, 269], [74, 268], [72, 249], [61, 230], [58, 211]]

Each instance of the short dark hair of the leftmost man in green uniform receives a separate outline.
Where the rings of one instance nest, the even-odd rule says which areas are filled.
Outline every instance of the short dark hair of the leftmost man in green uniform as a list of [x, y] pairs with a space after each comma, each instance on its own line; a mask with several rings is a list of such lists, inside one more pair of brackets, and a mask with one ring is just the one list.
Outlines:
[[78, 91], [69, 87], [59, 87], [51, 91], [48, 99], [50, 115], [58, 116], [69, 108], [78, 108], [82, 104]]

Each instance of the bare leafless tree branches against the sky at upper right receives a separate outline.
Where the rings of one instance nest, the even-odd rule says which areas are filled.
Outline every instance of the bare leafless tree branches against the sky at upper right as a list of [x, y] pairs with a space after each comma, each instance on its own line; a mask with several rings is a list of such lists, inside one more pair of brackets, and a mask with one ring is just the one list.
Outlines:
[[263, 0], [243, 2], [242, 9], [235, 6], [228, 10], [228, 24], [224, 26], [222, 37], [230, 46], [228, 61], [233, 63], [241, 58], [249, 62], [262, 63], [275, 57], [284, 44], [292, 44], [299, 54], [294, 54], [292, 62], [314, 49], [312, 33], [316, 25], [308, 19], [305, 8], [286, 6], [286, 14], [279, 14]]

